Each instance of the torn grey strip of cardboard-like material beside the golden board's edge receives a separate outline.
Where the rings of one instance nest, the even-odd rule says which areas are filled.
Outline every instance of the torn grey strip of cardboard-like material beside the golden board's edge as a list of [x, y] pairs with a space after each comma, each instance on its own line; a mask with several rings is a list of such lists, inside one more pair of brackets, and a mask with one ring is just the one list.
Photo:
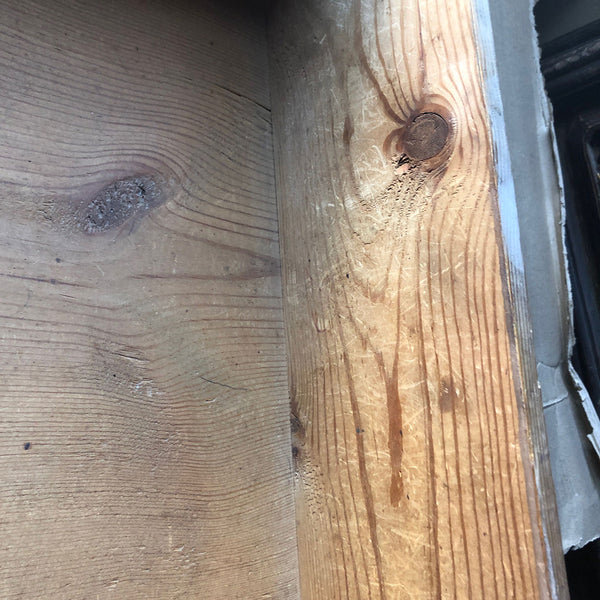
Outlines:
[[[503, 110], [511, 159], [520, 251], [527, 285], [532, 336], [544, 403], [552, 476], [563, 550], [600, 537], [598, 423], [592, 428], [582, 406], [586, 392], [570, 364], [573, 345], [571, 291], [564, 244], [563, 184], [553, 131], [552, 110], [544, 91], [533, 25], [533, 3], [476, 3], [480, 21], [489, 19], [496, 52], [496, 98], [490, 109]], [[483, 8], [481, 8], [483, 6]], [[519, 60], [515, 61], [518, 56]], [[489, 78], [489, 73], [487, 74]], [[511, 198], [504, 191], [504, 201]], [[501, 207], [510, 224], [513, 207]], [[507, 240], [507, 248], [514, 248]], [[519, 264], [512, 251], [511, 259]], [[594, 415], [589, 415], [594, 420]], [[587, 436], [590, 435], [591, 439]]]

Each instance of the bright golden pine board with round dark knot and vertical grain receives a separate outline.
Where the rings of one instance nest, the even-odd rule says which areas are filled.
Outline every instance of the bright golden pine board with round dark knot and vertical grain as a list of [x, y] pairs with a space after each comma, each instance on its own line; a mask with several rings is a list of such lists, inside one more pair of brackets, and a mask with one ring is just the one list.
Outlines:
[[471, 0], [270, 20], [302, 598], [552, 593], [475, 21]]

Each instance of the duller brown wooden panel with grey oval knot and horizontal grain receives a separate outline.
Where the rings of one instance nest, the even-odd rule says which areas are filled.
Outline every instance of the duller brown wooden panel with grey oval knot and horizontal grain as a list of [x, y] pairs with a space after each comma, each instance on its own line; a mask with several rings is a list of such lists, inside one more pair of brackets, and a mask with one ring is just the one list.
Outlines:
[[4, 2], [0, 597], [297, 598], [263, 19]]

